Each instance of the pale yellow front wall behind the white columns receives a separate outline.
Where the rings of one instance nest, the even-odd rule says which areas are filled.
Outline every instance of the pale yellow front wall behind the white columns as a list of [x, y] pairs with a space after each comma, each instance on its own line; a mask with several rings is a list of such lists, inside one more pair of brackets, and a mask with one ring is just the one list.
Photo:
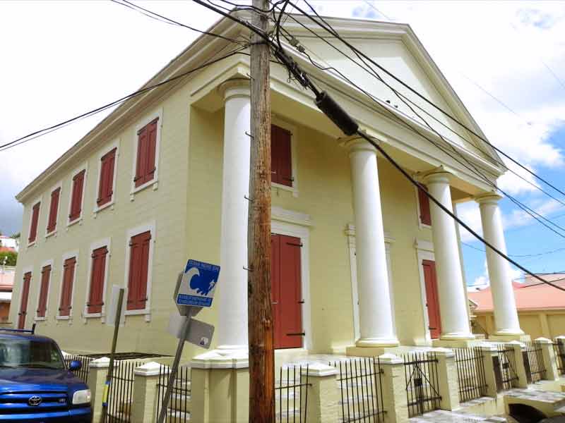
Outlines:
[[[347, 151], [336, 140], [304, 125], [291, 124], [296, 128], [293, 135], [299, 193], [295, 197], [288, 190], [273, 188], [273, 206], [311, 216], [312, 350], [328, 352], [354, 341], [350, 259], [344, 232], [347, 223], [353, 223], [350, 164]], [[190, 257], [211, 262], [220, 259], [222, 137], [221, 110], [210, 113], [191, 109], [187, 249]], [[391, 262], [396, 324], [401, 341], [412, 344], [424, 338], [414, 240], [431, 240], [431, 233], [417, 224], [414, 188], [380, 159], [379, 178], [385, 231], [394, 238]], [[221, 286], [218, 295], [220, 291]], [[206, 309], [198, 318], [215, 323], [217, 309]]]

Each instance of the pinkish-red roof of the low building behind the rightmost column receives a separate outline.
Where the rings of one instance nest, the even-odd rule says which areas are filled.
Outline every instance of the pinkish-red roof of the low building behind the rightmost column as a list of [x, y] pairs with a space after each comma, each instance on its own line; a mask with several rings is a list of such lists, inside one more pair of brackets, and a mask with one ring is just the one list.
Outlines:
[[[545, 278], [548, 275], [542, 275]], [[553, 275], [552, 275], [553, 276]], [[559, 275], [564, 277], [564, 275]], [[555, 277], [547, 277], [548, 281]], [[540, 285], [537, 285], [540, 283]], [[554, 282], [555, 285], [565, 288], [565, 281]], [[546, 283], [541, 283], [535, 279], [526, 283], [512, 282], [514, 297], [516, 298], [516, 308], [518, 310], [533, 309], [565, 309], [565, 291], [559, 290]], [[476, 292], [468, 293], [469, 299], [478, 304], [475, 312], [492, 312], [492, 295], [490, 287]]]

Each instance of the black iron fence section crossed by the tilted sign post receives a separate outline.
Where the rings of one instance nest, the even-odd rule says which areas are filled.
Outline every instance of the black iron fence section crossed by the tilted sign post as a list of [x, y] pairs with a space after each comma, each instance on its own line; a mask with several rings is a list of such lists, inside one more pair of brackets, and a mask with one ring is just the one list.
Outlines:
[[[157, 381], [157, 412], [159, 415], [162, 407], [165, 391], [167, 391], [167, 383], [170, 377], [170, 367], [161, 365], [159, 367], [159, 379]], [[190, 419], [190, 388], [191, 388], [191, 371], [189, 367], [179, 367], [177, 377], [174, 379], [171, 399], [167, 406], [167, 415], [165, 423], [186, 423]]]

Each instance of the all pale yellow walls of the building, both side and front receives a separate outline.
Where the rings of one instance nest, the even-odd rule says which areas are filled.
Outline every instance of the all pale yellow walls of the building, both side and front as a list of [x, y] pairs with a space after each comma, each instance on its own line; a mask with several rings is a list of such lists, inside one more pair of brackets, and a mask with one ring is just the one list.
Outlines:
[[[16, 281], [27, 266], [33, 267], [30, 289], [30, 309], [37, 305], [40, 266], [54, 260], [49, 293], [48, 319], [38, 322], [37, 331], [53, 336], [61, 348], [69, 351], [107, 351], [111, 329], [100, 319], [83, 319], [90, 244], [102, 238], [112, 238], [109, 286], [124, 284], [126, 261], [126, 231], [153, 219], [156, 222], [155, 256], [150, 322], [143, 316], [128, 317], [121, 331], [118, 348], [121, 351], [173, 353], [175, 340], [166, 331], [169, 312], [173, 309], [172, 290], [177, 272], [188, 257], [208, 262], [220, 259], [220, 213], [222, 190], [223, 111], [205, 111], [190, 104], [192, 87], [188, 82], [169, 93], [165, 99], [147, 108], [147, 112], [162, 107], [159, 183], [157, 190], [148, 188], [130, 200], [133, 167], [133, 145], [136, 123], [140, 114], [124, 123], [115, 136], [119, 137], [117, 166], [117, 201], [114, 209], [105, 209], [94, 218], [97, 196], [98, 145], [82, 157], [61, 168], [42, 185], [41, 192], [30, 195], [25, 202], [23, 238], [27, 238], [30, 207], [42, 194], [42, 209], [36, 247], [22, 246]], [[273, 110], [285, 120], [285, 110]], [[339, 350], [354, 342], [352, 282], [347, 237], [348, 223], [354, 223], [350, 163], [347, 151], [334, 138], [296, 122], [294, 134], [297, 158], [297, 196], [287, 190], [273, 188], [273, 205], [309, 214], [310, 237], [310, 307], [311, 351]], [[83, 223], [66, 230], [66, 214], [71, 187], [71, 172], [88, 160]], [[419, 264], [415, 239], [431, 241], [429, 228], [418, 225], [415, 189], [388, 163], [379, 159], [379, 178], [383, 204], [384, 230], [393, 238], [391, 264], [393, 298], [398, 337], [402, 343], [422, 343], [425, 337], [424, 308], [420, 287]], [[58, 180], [63, 180], [57, 237], [44, 238], [49, 207], [49, 192]], [[69, 250], [80, 250], [77, 281], [73, 298], [72, 321], [54, 319], [61, 284], [61, 256]], [[218, 291], [221, 286], [218, 287]], [[109, 291], [105, 302], [109, 303]], [[14, 299], [19, 304], [20, 283], [16, 283]], [[219, 294], [221, 295], [221, 293]], [[11, 319], [19, 307], [12, 307]], [[28, 326], [31, 324], [31, 315]], [[198, 319], [217, 323], [218, 310], [206, 309]], [[88, 331], [85, 331], [88, 329]], [[215, 344], [213, 344], [215, 346]], [[185, 357], [197, 352], [186, 346]], [[198, 352], [201, 352], [198, 349]]]

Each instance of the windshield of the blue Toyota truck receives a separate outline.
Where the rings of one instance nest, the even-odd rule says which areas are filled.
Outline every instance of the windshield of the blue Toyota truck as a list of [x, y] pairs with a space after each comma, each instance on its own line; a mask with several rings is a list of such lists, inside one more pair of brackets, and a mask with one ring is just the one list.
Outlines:
[[65, 365], [53, 341], [0, 338], [0, 368], [6, 367], [64, 369]]

